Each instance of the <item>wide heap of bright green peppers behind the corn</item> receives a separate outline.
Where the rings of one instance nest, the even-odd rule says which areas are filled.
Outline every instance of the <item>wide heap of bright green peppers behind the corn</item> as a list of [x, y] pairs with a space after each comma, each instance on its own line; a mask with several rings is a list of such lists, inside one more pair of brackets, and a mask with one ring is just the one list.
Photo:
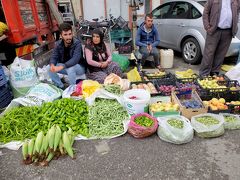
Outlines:
[[17, 107], [0, 117], [0, 142], [35, 137], [46, 133], [54, 124], [62, 131], [72, 128], [74, 134], [89, 136], [88, 107], [83, 100], [70, 98], [44, 103], [41, 107]]

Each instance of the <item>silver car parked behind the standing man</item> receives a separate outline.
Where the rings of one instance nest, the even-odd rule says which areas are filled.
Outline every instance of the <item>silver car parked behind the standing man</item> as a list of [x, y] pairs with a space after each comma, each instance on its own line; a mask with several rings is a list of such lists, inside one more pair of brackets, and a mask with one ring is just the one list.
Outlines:
[[[206, 1], [168, 0], [152, 11], [160, 35], [160, 46], [182, 53], [185, 62], [196, 64], [202, 59], [206, 31], [202, 13]], [[238, 55], [240, 40], [233, 38], [226, 56]]]

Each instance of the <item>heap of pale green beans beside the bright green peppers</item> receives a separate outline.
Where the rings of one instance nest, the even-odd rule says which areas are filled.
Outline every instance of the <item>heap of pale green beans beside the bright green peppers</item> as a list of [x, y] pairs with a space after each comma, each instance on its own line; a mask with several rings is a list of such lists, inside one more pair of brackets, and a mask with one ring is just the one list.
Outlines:
[[116, 100], [97, 99], [89, 107], [89, 134], [98, 138], [121, 134], [127, 118], [127, 111]]

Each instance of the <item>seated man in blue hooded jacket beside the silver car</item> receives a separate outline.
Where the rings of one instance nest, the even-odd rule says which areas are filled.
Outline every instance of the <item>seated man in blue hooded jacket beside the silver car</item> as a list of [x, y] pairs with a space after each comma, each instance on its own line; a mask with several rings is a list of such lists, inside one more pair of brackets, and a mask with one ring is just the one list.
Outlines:
[[157, 28], [153, 24], [152, 14], [145, 16], [145, 21], [139, 26], [136, 36], [136, 45], [142, 54], [141, 64], [144, 65], [147, 57], [153, 56], [155, 67], [160, 71], [164, 71], [160, 66], [159, 50], [156, 46], [159, 44], [160, 38]]

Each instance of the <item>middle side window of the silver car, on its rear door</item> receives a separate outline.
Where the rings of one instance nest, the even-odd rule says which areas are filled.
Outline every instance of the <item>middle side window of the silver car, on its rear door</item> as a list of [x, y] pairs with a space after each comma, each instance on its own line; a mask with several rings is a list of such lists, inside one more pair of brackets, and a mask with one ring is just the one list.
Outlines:
[[177, 2], [169, 13], [173, 19], [188, 19], [189, 18], [189, 3]]

